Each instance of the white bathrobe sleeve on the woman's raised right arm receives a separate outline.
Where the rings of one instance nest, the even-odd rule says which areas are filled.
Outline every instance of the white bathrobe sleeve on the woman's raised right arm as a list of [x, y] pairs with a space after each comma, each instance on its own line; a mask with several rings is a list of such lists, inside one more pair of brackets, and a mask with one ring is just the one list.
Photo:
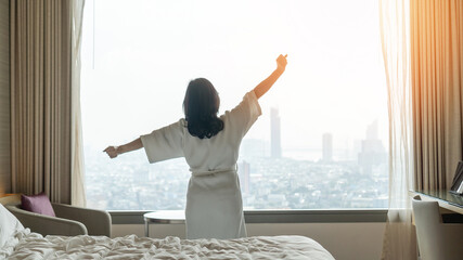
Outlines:
[[239, 138], [243, 138], [262, 114], [254, 90], [247, 92], [243, 101], [231, 112], [226, 113]]

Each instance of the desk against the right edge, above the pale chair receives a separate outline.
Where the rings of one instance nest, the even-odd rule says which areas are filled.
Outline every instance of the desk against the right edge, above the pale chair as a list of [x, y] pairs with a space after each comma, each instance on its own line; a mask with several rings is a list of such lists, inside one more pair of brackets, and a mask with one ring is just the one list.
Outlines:
[[411, 191], [409, 194], [412, 197], [420, 195], [421, 199], [425, 202], [437, 202], [439, 207], [463, 214], [463, 196], [449, 193], [448, 191], [433, 191], [426, 193]]

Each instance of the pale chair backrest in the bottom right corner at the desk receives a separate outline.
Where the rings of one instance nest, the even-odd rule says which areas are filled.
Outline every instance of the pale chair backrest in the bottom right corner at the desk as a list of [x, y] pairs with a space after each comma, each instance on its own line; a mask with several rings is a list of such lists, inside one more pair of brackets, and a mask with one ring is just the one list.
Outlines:
[[437, 202], [423, 202], [415, 196], [412, 207], [421, 259], [463, 259], [463, 225], [443, 224]]

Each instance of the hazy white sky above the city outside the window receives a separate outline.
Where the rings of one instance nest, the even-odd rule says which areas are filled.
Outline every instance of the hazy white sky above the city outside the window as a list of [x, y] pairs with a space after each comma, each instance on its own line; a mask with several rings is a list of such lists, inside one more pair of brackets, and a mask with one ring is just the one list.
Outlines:
[[87, 144], [131, 141], [183, 117], [188, 82], [208, 78], [233, 108], [287, 53], [285, 74], [259, 102], [247, 138], [269, 140], [280, 109], [282, 146], [334, 148], [387, 133], [377, 1], [86, 1], [81, 106]]

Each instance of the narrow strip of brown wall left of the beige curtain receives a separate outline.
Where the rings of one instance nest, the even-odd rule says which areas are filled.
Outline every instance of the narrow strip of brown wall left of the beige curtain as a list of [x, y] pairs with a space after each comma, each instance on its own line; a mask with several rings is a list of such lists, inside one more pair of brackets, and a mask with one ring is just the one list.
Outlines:
[[9, 2], [0, 0], [0, 194], [11, 192]]

